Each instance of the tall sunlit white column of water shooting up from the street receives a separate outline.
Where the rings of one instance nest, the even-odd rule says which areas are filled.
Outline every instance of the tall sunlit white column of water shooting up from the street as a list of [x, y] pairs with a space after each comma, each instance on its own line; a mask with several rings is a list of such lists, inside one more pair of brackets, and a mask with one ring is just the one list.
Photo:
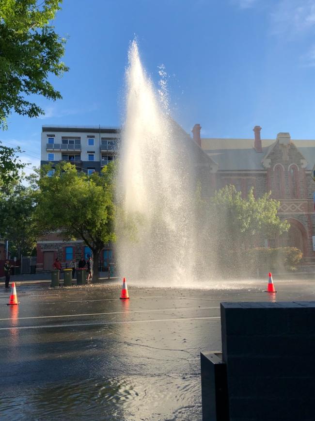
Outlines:
[[121, 274], [136, 280], [189, 282], [195, 238], [189, 156], [135, 41], [128, 57], [117, 187], [118, 265]]

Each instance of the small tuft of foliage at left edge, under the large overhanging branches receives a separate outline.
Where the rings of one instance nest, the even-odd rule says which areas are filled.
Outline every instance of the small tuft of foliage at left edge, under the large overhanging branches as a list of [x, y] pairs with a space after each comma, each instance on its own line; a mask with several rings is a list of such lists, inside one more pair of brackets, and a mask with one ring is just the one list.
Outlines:
[[26, 165], [16, 156], [16, 153], [20, 152], [20, 147], [3, 146], [0, 142], [0, 196], [10, 192], [21, 179], [21, 170]]

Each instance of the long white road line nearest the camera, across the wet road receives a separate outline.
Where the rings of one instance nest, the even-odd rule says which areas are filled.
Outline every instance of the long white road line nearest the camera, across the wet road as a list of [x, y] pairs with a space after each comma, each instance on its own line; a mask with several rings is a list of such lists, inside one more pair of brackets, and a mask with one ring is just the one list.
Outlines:
[[78, 326], [107, 326], [110, 324], [132, 324], [132, 323], [152, 323], [152, 322], [182, 322], [187, 320], [217, 320], [221, 319], [220, 316], [215, 317], [188, 317], [179, 319], [154, 319], [154, 320], [130, 320], [124, 322], [96, 322], [96, 323], [77, 323], [77, 324], [50, 324], [41, 326], [12, 326], [12, 327], [0, 327], [0, 330], [21, 330], [21, 329], [49, 329], [56, 327], [78, 327]]

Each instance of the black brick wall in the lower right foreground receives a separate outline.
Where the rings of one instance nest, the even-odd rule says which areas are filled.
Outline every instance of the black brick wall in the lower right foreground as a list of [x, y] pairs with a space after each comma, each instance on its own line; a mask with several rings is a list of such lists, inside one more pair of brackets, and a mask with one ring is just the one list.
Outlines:
[[[315, 302], [221, 303], [221, 331], [230, 421], [315, 420]], [[218, 399], [204, 357], [211, 421], [206, 400]]]

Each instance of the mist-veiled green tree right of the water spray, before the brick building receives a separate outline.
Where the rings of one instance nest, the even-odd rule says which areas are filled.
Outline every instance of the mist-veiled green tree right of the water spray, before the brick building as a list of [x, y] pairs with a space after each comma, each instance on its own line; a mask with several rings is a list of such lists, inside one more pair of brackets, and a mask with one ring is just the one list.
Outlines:
[[279, 208], [280, 202], [270, 193], [256, 199], [251, 189], [243, 198], [234, 185], [228, 185], [206, 201], [197, 188], [197, 219], [203, 228], [198, 231], [200, 254], [209, 250], [210, 266], [236, 273], [243, 265], [244, 250], [289, 229], [290, 224], [279, 218]]

